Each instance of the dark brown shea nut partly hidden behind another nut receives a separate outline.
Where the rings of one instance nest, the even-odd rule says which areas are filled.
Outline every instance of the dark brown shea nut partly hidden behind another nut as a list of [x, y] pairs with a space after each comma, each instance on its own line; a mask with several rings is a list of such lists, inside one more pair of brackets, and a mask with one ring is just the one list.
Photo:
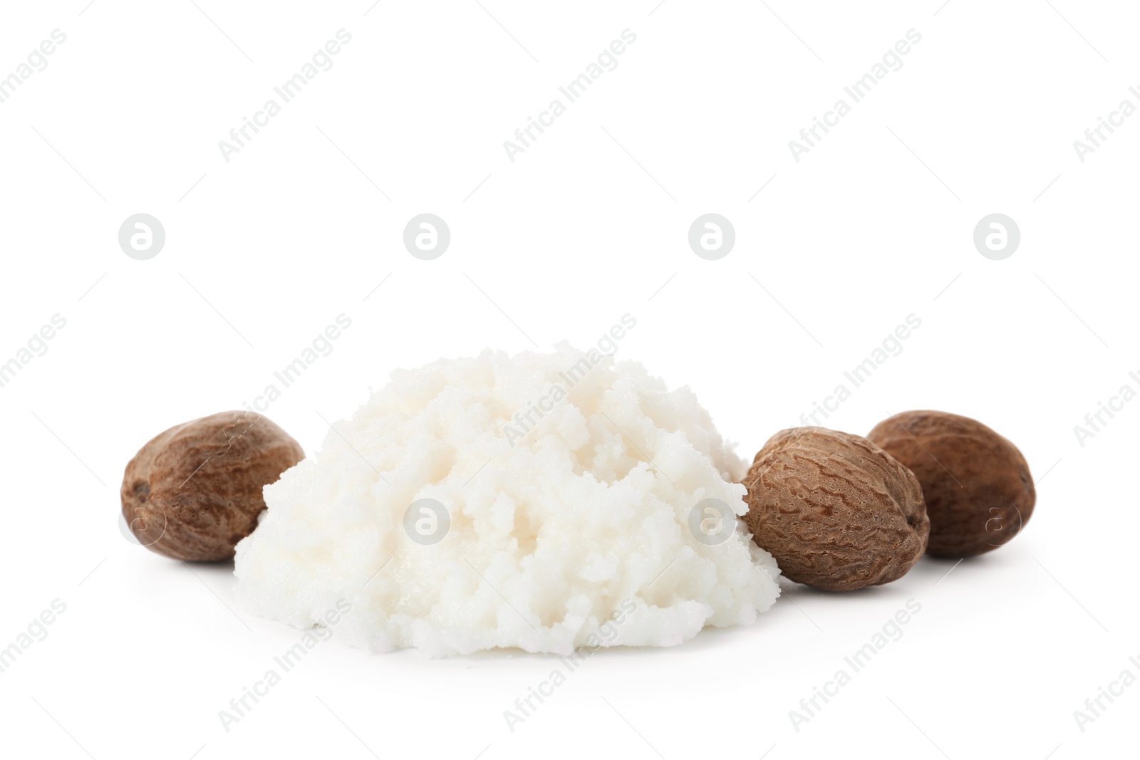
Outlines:
[[911, 468], [930, 515], [927, 554], [972, 557], [996, 549], [1029, 522], [1037, 500], [1017, 447], [976, 419], [904, 411], [868, 438]]

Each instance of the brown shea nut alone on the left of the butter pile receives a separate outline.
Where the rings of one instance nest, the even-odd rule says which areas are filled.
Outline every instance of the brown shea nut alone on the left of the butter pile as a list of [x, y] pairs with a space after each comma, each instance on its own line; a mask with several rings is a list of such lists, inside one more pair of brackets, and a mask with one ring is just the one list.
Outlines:
[[230, 559], [266, 508], [262, 487], [304, 459], [268, 417], [223, 411], [171, 427], [123, 475], [123, 517], [139, 542], [174, 559]]

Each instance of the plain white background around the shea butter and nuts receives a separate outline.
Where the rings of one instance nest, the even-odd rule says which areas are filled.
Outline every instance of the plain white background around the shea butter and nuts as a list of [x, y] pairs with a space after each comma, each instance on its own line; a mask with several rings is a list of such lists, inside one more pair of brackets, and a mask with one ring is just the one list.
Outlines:
[[[67, 40], [0, 104], [0, 361], [67, 324], [0, 389], [0, 646], [66, 604], [0, 673], [3, 754], [1133, 754], [1140, 686], [1083, 733], [1073, 712], [1140, 676], [1140, 402], [1083, 447], [1073, 428], [1140, 390], [1140, 115], [1083, 163], [1073, 141], [1140, 106], [1135, 9], [480, 1], [5, 3], [0, 75], [52, 30]], [[218, 141], [340, 28], [334, 66], [223, 161]], [[503, 141], [625, 28], [618, 67], [512, 163]], [[788, 141], [911, 28], [903, 67], [797, 163]], [[149, 261], [116, 238], [140, 212], [166, 231]], [[451, 230], [434, 261], [401, 243], [422, 212]], [[686, 242], [707, 212], [735, 227], [719, 261]], [[1021, 230], [1004, 261], [971, 239], [994, 212]], [[556, 660], [335, 638], [225, 732], [218, 711], [300, 634], [237, 607], [231, 566], [123, 539], [137, 449], [252, 401], [341, 313], [334, 352], [267, 411], [310, 453], [320, 416], [394, 368], [586, 346], [627, 312], [619, 357], [694, 389], [749, 459], [918, 316], [825, 424], [976, 417], [1040, 480], [1032, 522], [958, 566], [925, 558], [853, 594], [789, 585], [749, 628], [595, 655], [513, 733], [503, 711]], [[789, 711], [912, 598], [904, 636], [795, 730]]]

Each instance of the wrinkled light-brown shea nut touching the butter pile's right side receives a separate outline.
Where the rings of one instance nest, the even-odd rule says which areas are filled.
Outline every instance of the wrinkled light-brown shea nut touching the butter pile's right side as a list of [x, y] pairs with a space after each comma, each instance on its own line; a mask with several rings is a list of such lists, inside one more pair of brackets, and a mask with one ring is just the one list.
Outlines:
[[889, 583], [926, 550], [930, 522], [918, 479], [860, 435], [780, 431], [744, 487], [752, 540], [798, 583], [829, 591]]

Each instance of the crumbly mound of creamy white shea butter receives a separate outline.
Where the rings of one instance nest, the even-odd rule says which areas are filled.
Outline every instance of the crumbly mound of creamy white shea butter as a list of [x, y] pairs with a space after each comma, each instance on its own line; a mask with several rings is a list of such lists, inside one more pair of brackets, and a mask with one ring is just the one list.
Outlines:
[[[374, 651], [671, 646], [780, 593], [735, 518], [743, 471], [693, 393], [638, 363], [567, 344], [440, 360], [266, 487], [237, 591], [296, 627], [341, 602], [337, 638]], [[735, 513], [722, 542], [692, 528], [708, 499]]]

